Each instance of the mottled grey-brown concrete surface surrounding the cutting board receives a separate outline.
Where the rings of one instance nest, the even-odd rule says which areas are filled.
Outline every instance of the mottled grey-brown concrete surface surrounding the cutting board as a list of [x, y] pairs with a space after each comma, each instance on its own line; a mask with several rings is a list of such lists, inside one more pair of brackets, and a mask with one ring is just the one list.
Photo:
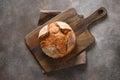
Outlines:
[[[90, 28], [96, 41], [87, 49], [87, 65], [42, 74], [24, 44], [40, 9], [74, 7], [87, 17], [101, 6], [108, 16]], [[119, 48], [120, 0], [0, 0], [0, 80], [120, 80]]]

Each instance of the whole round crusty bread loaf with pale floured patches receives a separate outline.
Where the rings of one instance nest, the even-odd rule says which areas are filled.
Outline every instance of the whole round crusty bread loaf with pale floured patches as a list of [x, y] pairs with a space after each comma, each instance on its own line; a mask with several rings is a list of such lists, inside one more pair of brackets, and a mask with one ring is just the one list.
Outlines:
[[69, 54], [76, 44], [76, 36], [72, 28], [61, 21], [44, 26], [40, 30], [38, 38], [42, 51], [54, 59]]

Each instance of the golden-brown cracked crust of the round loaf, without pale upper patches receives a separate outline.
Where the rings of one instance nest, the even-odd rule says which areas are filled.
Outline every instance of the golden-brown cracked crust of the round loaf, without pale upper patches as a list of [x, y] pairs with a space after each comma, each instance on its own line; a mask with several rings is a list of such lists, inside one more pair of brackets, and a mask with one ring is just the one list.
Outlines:
[[[56, 22], [48, 25], [48, 32], [39, 37], [40, 46], [46, 55], [52, 58], [60, 58], [70, 52], [68, 41], [70, 42], [73, 32], [69, 28], [61, 29]], [[74, 39], [75, 40], [75, 39]], [[72, 45], [74, 46], [75, 41]], [[69, 43], [71, 44], [71, 43]], [[71, 48], [72, 49], [72, 48]]]

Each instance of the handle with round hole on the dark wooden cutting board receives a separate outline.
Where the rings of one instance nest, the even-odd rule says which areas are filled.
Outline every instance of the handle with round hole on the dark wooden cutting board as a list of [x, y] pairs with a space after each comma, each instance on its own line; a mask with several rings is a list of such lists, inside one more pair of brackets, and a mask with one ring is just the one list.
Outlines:
[[86, 28], [93, 22], [105, 17], [106, 15], [107, 15], [107, 10], [104, 7], [99, 8], [93, 14], [91, 14], [85, 19], [85, 23], [87, 23]]

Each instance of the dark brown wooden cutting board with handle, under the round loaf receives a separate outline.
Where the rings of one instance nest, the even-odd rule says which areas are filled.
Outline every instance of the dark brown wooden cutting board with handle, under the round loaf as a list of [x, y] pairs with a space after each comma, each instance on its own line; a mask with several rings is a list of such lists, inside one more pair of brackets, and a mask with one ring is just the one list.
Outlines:
[[[84, 19], [77, 14], [74, 8], [71, 8], [58, 14], [57, 16], [50, 20], [48, 18], [49, 20], [48, 22], [41, 26], [38, 26], [35, 30], [33, 30], [32, 32], [25, 36], [25, 42], [28, 48], [32, 51], [32, 53], [34, 53], [34, 56], [38, 59], [38, 62], [40, 63], [42, 69], [45, 72], [58, 70], [62, 68], [63, 65], [66, 65], [66, 63], [68, 63], [69, 60], [79, 55], [80, 52], [85, 50], [88, 46], [90, 46], [94, 42], [94, 37], [91, 35], [87, 28], [91, 23], [104, 17], [106, 14], [107, 14], [106, 9], [100, 8], [97, 11], [95, 11], [92, 15], [90, 15], [88, 18]], [[44, 20], [41, 21], [44, 22]], [[69, 55], [60, 59], [51, 59], [48, 56], [46, 56], [42, 52], [38, 40], [39, 30], [46, 24], [49, 24], [54, 21], [64, 21], [68, 23], [72, 27], [77, 36], [77, 45], [75, 49]]]

